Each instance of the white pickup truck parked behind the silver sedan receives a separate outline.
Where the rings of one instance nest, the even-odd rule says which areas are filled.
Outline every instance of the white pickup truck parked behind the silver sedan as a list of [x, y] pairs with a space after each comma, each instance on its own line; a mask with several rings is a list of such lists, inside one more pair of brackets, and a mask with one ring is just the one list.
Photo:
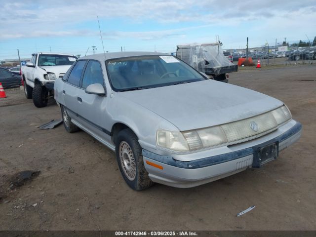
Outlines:
[[76, 61], [72, 54], [34, 53], [26, 65], [22, 65], [22, 80], [27, 99], [32, 99], [38, 108], [47, 105], [48, 98], [54, 95], [54, 81], [64, 77]]

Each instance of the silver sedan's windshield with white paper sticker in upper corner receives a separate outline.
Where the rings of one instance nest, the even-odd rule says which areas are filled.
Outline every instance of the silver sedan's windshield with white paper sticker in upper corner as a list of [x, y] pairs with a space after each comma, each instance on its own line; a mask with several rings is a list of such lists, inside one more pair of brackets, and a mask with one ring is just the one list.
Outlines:
[[171, 55], [149, 55], [106, 61], [116, 91], [138, 90], [205, 80], [196, 70]]

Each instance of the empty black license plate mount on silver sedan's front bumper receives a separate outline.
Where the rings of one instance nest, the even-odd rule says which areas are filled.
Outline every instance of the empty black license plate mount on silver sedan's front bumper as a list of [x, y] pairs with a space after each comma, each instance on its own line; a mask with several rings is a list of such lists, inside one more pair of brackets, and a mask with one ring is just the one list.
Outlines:
[[256, 156], [253, 158], [253, 167], [260, 167], [261, 165], [274, 160], [278, 157], [278, 142], [269, 144], [264, 147], [257, 148]]

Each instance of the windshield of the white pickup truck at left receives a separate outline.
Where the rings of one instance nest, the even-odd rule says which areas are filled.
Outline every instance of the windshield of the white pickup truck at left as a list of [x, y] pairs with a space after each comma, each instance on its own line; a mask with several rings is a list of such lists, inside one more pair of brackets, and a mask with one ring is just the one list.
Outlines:
[[63, 66], [72, 65], [76, 61], [75, 56], [40, 54], [39, 66]]

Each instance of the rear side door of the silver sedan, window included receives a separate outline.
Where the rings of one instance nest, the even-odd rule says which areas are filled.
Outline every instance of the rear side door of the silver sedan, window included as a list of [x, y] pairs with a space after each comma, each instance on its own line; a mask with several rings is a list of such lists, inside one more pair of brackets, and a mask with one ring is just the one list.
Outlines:
[[82, 88], [79, 87], [80, 79], [82, 77], [83, 69], [87, 60], [78, 60], [72, 68], [67, 81], [63, 83], [62, 96], [65, 103], [65, 107], [72, 119], [79, 120], [77, 118], [79, 113], [79, 93]]

